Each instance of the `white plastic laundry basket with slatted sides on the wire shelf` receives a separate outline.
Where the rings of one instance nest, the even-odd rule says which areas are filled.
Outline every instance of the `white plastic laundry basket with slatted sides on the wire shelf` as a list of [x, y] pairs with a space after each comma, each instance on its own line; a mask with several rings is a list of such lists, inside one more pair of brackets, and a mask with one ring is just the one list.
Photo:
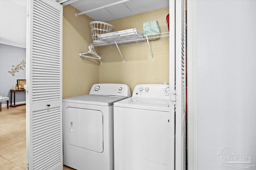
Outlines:
[[92, 21], [89, 25], [91, 27], [93, 43], [103, 42], [102, 40], [100, 40], [98, 35], [110, 33], [114, 29], [113, 25], [101, 21]]

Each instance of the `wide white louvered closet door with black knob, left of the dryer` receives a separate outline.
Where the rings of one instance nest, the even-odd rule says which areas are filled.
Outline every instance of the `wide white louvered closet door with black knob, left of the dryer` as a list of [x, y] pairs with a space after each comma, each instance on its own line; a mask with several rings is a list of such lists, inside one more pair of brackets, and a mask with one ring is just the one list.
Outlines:
[[28, 5], [27, 166], [62, 169], [62, 6]]

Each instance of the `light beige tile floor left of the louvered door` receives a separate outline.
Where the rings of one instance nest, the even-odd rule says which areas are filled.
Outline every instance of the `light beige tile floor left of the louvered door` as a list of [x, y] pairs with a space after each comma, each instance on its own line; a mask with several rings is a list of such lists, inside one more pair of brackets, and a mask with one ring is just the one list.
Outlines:
[[[0, 170], [26, 170], [26, 106], [0, 111]], [[72, 170], [63, 166], [63, 170]]]

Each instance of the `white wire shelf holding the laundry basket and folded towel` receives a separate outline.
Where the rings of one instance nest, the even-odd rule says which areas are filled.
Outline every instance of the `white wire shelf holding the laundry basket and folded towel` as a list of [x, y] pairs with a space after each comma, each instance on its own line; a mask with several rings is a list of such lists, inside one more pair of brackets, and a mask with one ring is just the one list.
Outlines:
[[117, 45], [128, 45], [128, 44], [137, 44], [137, 43], [147, 42], [147, 39], [148, 41], [168, 40], [169, 32], [157, 33], [152, 35], [142, 35], [138, 37], [124, 38], [124, 39], [116, 39], [114, 41], [113, 40], [108, 41], [106, 39], [103, 42], [92, 43], [89, 45], [94, 47], [99, 47], [100, 49], [102, 49], [102, 48], [108, 48], [108, 47], [113, 47]]

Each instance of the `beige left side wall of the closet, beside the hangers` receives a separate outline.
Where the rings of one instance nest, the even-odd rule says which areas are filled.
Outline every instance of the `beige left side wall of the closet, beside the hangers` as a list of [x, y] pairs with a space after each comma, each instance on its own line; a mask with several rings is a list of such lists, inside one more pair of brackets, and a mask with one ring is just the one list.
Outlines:
[[88, 94], [93, 84], [99, 83], [99, 64], [79, 57], [92, 43], [90, 21], [79, 17], [74, 7], [63, 7], [63, 98]]

